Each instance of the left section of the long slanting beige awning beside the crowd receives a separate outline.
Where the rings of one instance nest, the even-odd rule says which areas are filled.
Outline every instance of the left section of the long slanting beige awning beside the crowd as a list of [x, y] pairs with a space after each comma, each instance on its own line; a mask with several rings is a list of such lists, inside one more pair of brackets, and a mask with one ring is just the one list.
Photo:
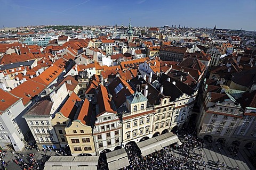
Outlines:
[[151, 138], [137, 143], [142, 156], [147, 156], [155, 151], [161, 150], [162, 147], [157, 143], [156, 138]]

